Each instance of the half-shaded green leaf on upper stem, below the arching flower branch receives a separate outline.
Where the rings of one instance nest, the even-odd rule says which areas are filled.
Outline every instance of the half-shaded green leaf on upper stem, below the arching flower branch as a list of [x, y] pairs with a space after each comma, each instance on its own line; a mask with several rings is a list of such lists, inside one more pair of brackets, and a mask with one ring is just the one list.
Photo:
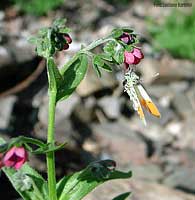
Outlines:
[[83, 80], [88, 67], [88, 58], [85, 54], [77, 55], [73, 62], [64, 66], [60, 71], [63, 81], [57, 92], [57, 101], [68, 98]]

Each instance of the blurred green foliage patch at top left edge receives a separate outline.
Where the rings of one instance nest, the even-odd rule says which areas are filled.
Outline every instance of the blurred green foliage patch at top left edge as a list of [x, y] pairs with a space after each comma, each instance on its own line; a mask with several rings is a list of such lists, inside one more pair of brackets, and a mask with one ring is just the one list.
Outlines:
[[24, 12], [32, 15], [44, 15], [60, 6], [64, 0], [13, 0]]

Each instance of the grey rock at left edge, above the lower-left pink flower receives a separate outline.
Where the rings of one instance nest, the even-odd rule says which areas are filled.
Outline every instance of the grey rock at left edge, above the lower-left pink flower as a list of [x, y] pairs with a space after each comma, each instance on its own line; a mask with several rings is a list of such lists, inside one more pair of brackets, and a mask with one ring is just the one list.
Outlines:
[[0, 129], [7, 128], [16, 97], [9, 96], [0, 99]]

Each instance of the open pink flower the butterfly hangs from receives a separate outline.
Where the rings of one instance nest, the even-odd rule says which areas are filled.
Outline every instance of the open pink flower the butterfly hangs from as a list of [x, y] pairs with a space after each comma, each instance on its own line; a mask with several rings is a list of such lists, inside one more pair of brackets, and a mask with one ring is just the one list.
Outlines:
[[134, 48], [131, 52], [125, 51], [125, 65], [129, 67], [129, 65], [136, 65], [140, 62], [141, 59], [144, 58], [143, 53], [140, 49]]

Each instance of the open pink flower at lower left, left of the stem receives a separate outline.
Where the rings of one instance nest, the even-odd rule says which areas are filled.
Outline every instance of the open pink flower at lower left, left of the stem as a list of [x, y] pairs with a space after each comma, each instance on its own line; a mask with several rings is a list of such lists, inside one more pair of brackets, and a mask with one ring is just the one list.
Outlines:
[[12, 147], [7, 151], [3, 158], [3, 165], [6, 167], [13, 167], [16, 170], [20, 169], [27, 161], [28, 154], [24, 147]]

